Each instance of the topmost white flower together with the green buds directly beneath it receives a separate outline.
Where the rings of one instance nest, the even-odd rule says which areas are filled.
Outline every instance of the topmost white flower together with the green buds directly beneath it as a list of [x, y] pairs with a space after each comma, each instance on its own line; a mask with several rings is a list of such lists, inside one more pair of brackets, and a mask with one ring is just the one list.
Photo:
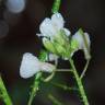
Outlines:
[[55, 13], [51, 20], [46, 18], [39, 26], [43, 44], [50, 52], [61, 57], [70, 55], [70, 31], [63, 27], [65, 21], [60, 13]]

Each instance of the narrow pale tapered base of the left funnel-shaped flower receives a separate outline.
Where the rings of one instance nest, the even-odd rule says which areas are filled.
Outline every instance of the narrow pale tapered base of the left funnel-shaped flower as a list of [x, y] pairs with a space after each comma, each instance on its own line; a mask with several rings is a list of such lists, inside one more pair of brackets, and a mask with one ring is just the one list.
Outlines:
[[51, 73], [56, 67], [54, 65], [42, 62], [42, 71]]

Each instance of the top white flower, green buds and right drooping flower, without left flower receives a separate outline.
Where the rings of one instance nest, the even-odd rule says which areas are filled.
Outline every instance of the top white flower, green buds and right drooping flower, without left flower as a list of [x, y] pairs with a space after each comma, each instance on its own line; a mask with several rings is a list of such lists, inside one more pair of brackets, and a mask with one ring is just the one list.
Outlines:
[[68, 28], [65, 28], [65, 20], [60, 13], [52, 14], [51, 19], [46, 18], [39, 26], [43, 36], [43, 44], [47, 50], [62, 58], [69, 59], [73, 54], [82, 49], [85, 59], [90, 59], [90, 37], [81, 28], [71, 36]]

